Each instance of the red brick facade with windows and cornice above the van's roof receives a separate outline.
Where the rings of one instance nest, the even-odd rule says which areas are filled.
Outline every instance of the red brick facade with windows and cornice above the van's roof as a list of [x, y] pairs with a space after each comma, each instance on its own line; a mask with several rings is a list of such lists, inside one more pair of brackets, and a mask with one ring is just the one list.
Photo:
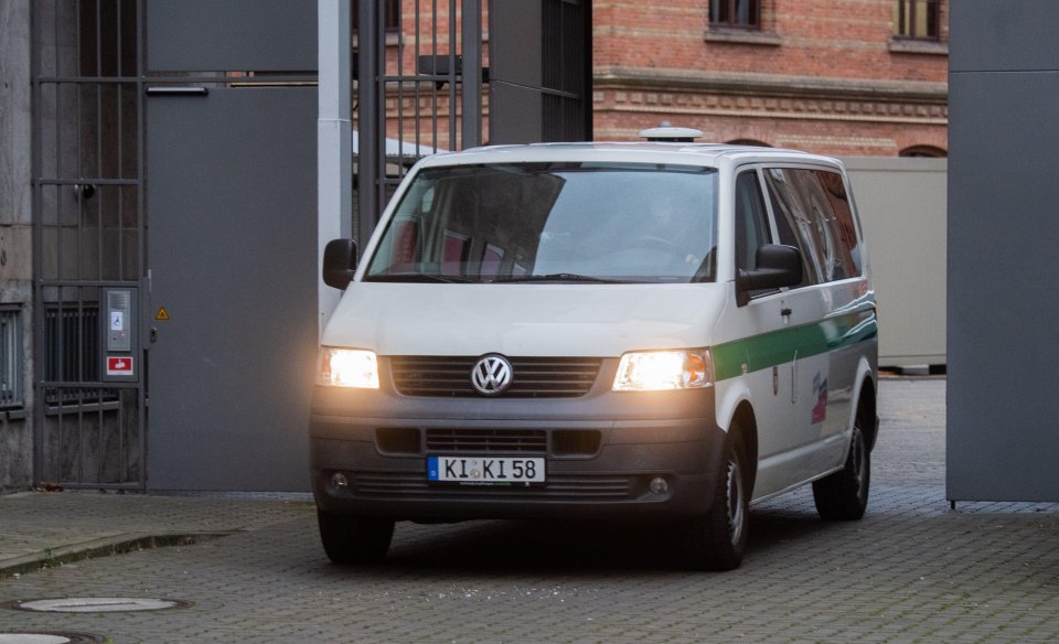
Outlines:
[[597, 0], [595, 136], [944, 155], [949, 0]]

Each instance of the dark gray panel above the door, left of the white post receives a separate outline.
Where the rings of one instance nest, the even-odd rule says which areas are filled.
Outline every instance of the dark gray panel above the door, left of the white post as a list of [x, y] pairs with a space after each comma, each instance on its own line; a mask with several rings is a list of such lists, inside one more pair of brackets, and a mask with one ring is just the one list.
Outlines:
[[306, 0], [148, 0], [150, 72], [317, 68], [317, 4]]

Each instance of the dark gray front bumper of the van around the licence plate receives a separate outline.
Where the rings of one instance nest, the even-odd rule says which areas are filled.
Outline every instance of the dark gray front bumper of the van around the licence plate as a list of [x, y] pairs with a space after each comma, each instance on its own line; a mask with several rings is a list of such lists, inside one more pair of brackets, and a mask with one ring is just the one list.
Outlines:
[[[513, 448], [512, 436], [526, 440]], [[317, 505], [397, 520], [702, 514], [724, 442], [713, 389], [613, 393], [600, 383], [585, 396], [559, 399], [318, 387], [310, 421]], [[547, 480], [532, 487], [432, 484], [432, 454], [542, 457]], [[332, 484], [339, 472], [347, 486]], [[666, 482], [663, 493], [651, 491], [657, 477]]]

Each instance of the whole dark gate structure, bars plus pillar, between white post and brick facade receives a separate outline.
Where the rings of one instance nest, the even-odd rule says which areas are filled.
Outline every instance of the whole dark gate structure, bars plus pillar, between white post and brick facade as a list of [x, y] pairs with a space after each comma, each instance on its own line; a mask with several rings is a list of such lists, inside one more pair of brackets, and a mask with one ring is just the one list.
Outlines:
[[590, 0], [354, 4], [359, 239], [421, 157], [591, 139]]

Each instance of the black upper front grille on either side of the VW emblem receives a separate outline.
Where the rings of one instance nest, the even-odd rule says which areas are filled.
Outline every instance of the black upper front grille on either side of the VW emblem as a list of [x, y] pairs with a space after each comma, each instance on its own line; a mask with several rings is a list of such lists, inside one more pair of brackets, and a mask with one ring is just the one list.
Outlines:
[[[471, 385], [478, 357], [391, 356], [394, 386], [405, 396], [480, 397]], [[513, 357], [506, 398], [574, 398], [592, 388], [601, 358]]]

